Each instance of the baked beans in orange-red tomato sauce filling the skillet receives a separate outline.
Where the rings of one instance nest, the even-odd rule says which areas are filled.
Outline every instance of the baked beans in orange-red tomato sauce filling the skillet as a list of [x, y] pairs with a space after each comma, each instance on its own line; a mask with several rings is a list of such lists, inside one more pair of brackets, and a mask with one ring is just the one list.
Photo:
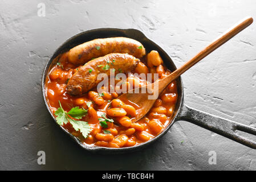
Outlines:
[[[131, 119], [135, 117], [139, 107], [136, 105], [124, 103], [117, 97], [120, 92], [117, 91], [125, 86], [142, 86], [147, 81], [139, 77], [128, 77], [121, 86], [115, 86], [115, 93], [109, 93], [108, 89], [103, 88], [103, 94], [97, 93], [94, 88], [82, 96], [70, 96], [67, 94], [66, 86], [68, 80], [80, 66], [68, 63], [67, 53], [56, 57], [46, 78], [46, 99], [52, 113], [60, 107], [59, 101], [65, 111], [78, 106], [87, 109], [87, 115], [80, 119], [86, 121], [91, 127], [91, 132], [87, 138], [84, 138], [80, 131], [73, 129], [70, 123], [63, 127], [69, 133], [79, 138], [80, 141], [89, 146], [101, 147], [131, 147], [137, 144], [147, 142], [159, 135], [166, 126], [169, 125], [177, 101], [176, 81], [173, 81], [157, 98], [155, 105], [145, 117], [132, 123]], [[133, 73], [158, 73], [159, 79], [170, 74], [157, 51], [151, 51], [141, 59]], [[153, 76], [152, 76], [153, 77]], [[89, 105], [88, 103], [92, 104]], [[107, 127], [100, 125], [99, 118], [105, 114], [107, 118], [112, 118], [115, 122], [107, 122]]]

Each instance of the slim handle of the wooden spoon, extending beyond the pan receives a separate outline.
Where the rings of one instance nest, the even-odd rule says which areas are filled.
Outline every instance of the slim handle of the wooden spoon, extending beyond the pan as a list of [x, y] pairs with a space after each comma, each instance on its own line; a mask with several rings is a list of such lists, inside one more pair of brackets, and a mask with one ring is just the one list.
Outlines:
[[245, 18], [245, 19], [241, 20], [240, 22], [238, 22], [237, 24], [235, 24], [229, 30], [224, 32], [220, 37], [218, 37], [216, 40], [214, 40], [212, 43], [210, 43], [209, 46], [202, 49], [201, 52], [197, 53], [196, 56], [194, 56], [192, 59], [190, 59], [184, 65], [182, 65], [180, 68], [176, 69], [176, 71], [172, 72], [172, 74], [170, 76], [168, 76], [169, 78], [166, 79], [166, 81], [168, 80], [170, 82], [170, 81], [175, 80], [182, 73], [187, 71], [190, 67], [192, 67], [194, 64], [196, 64], [198, 61], [202, 60], [205, 56], [209, 55], [215, 49], [222, 46], [222, 44], [226, 43], [227, 40], [233, 38], [233, 36], [237, 35], [239, 32], [241, 32], [243, 29], [245, 29], [251, 23], [253, 23], [253, 18], [249, 17], [249, 18]]

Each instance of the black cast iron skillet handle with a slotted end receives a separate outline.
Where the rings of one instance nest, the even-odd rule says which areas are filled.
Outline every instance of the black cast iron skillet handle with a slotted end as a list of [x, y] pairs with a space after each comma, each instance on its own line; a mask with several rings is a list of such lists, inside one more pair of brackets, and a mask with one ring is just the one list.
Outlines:
[[250, 148], [256, 149], [256, 142], [237, 134], [236, 130], [243, 131], [256, 136], [256, 128], [243, 125], [228, 119], [216, 117], [215, 115], [204, 113], [184, 105], [177, 120], [184, 120], [195, 125], [204, 127], [214, 133], [220, 134], [226, 138], [244, 144]]

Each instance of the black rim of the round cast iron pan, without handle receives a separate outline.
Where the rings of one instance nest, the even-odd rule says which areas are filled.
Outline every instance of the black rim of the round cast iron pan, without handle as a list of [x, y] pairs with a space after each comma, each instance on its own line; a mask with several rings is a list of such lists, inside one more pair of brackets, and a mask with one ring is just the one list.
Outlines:
[[[42, 78], [41, 78], [42, 79], [41, 80], [41, 92], [42, 92], [44, 104], [46, 105], [47, 110], [50, 113], [51, 117], [54, 119], [55, 123], [56, 123], [56, 119], [55, 119], [54, 115], [51, 113], [51, 110], [50, 110], [50, 108], [49, 108], [49, 106], [47, 104], [46, 95], [45, 95], [45, 90], [46, 90], [45, 83], [46, 83], [46, 76], [47, 76], [47, 73], [48, 73], [48, 69], [50, 68], [50, 65], [51, 65], [52, 61], [55, 59], [55, 57], [58, 56], [58, 55], [56, 55], [56, 53], [64, 51], [63, 48], [62, 48], [64, 45], [68, 44], [69, 42], [71, 42], [75, 38], [78, 38], [78, 37], [80, 37], [80, 36], [82, 36], [84, 34], [88, 34], [90, 32], [97, 32], [97, 31], [119, 31], [119, 32], [124, 32], [125, 34], [127, 34], [127, 32], [129, 32], [129, 31], [138, 32], [143, 37], [143, 39], [148, 40], [149, 42], [151, 42], [153, 44], [153, 46], [156, 46], [159, 49], [161, 49], [161, 51], [164, 52], [168, 56], [169, 60], [167, 60], [167, 61], [171, 61], [173, 63], [173, 65], [174, 65], [173, 69], [177, 69], [176, 65], [173, 62], [173, 60], [171, 59], [169, 54], [163, 48], [161, 48], [158, 44], [156, 44], [151, 39], [149, 39], [147, 36], [145, 36], [145, 34], [143, 32], [141, 32], [140, 30], [137, 30], [135, 28], [94, 28], [94, 29], [83, 31], [83, 32], [79, 32], [78, 34], [75, 34], [75, 35], [71, 36], [70, 38], [68, 38], [57, 49], [55, 49], [54, 53], [52, 54], [50, 59], [47, 60], [47, 64], [46, 64], [46, 66], [43, 69], [43, 74], [42, 74]], [[165, 135], [169, 131], [170, 127], [172, 127], [173, 123], [176, 122], [177, 116], [180, 113], [181, 108], [182, 108], [182, 106], [184, 104], [183, 83], [182, 83], [181, 77], [179, 77], [178, 79], [180, 80], [179, 84], [180, 84], [180, 91], [181, 92], [179, 93], [180, 94], [180, 96], [179, 96], [180, 101], [179, 101], [178, 104], [176, 104], [176, 113], [175, 113], [172, 121], [170, 121], [169, 125], [166, 126], [165, 129], [159, 135], [157, 135], [156, 137], [148, 140], [147, 142], [137, 144], [136, 146], [123, 147], [123, 148], [109, 148], [109, 147], [100, 147], [100, 146], [88, 146], [88, 145], [83, 144], [82, 142], [80, 142], [80, 140], [78, 138], [74, 137], [71, 133], [69, 133], [66, 129], [64, 129], [63, 126], [58, 125], [58, 123], [56, 123], [56, 125], [58, 125], [62, 130], [64, 130], [64, 133], [68, 134], [73, 140], [75, 140], [75, 142], [78, 143], [80, 147], [82, 147], [84, 150], [87, 150], [87, 151], [91, 151], [91, 152], [103, 152], [103, 151], [106, 152], [106, 151], [108, 151], [110, 153], [111, 152], [115, 152], [115, 154], [116, 154], [116, 153], [121, 153], [121, 152], [140, 150], [140, 149], [142, 149], [142, 148], [144, 148], [146, 146], [149, 146], [149, 144], [155, 142], [156, 140], [161, 138], [163, 135]]]

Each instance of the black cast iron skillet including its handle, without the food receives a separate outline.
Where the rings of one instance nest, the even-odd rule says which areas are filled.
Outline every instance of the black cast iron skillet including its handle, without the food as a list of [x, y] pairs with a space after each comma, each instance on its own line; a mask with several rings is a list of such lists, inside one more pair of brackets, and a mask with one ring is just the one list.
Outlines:
[[[48, 61], [46, 67], [43, 71], [42, 76], [42, 94], [43, 94], [43, 100], [46, 104], [46, 107], [48, 111], [50, 112], [52, 118], [55, 119], [54, 115], [51, 113], [47, 101], [46, 101], [46, 95], [45, 95], [45, 82], [46, 82], [46, 75], [48, 71], [51, 68], [52, 61], [56, 56], [58, 56], [60, 53], [63, 53], [65, 51], [68, 51], [68, 49], [77, 46], [79, 44], [82, 44], [84, 42], [96, 39], [96, 38], [109, 38], [109, 37], [116, 37], [116, 36], [124, 36], [128, 38], [132, 38], [135, 40], [138, 40], [141, 42], [147, 51], [156, 50], [160, 53], [162, 60], [164, 60], [164, 63], [170, 71], [174, 71], [176, 66], [174, 65], [172, 59], [170, 59], [170, 56], [168, 53], [164, 51], [161, 47], [159, 47], [156, 43], [152, 42], [152, 40], [149, 40], [141, 31], [135, 30], [135, 29], [119, 29], [119, 28], [97, 28], [94, 30], [88, 30], [81, 32], [80, 34], [77, 34], [75, 36], [72, 36], [70, 39], [68, 39], [66, 42], [62, 44], [55, 52], [54, 55], [51, 57], [51, 59]], [[161, 134], [157, 135], [155, 138], [149, 140], [148, 142], [145, 142], [143, 144], [139, 144], [137, 146], [133, 147], [126, 147], [126, 148], [107, 148], [107, 147], [90, 147], [84, 145], [82, 142], [80, 142], [79, 139], [75, 138], [73, 135], [68, 133], [62, 126], [62, 130], [64, 130], [72, 139], [74, 139], [82, 148], [84, 148], [87, 151], [91, 152], [106, 152], [108, 153], [123, 153], [128, 151], [136, 151], [140, 150], [141, 148], [144, 148], [148, 146], [149, 144], [155, 142], [157, 139], [162, 137], [173, 125], [174, 122], [184, 120], [189, 121], [191, 123], [194, 123], [195, 125], [204, 127], [205, 129], [208, 129], [210, 131], [213, 131], [214, 133], [220, 134], [224, 137], [230, 138], [232, 140], [235, 140], [236, 142], [239, 142], [241, 144], [244, 144], [245, 146], [256, 148], [256, 142], [241, 137], [237, 134], [237, 130], [243, 131], [245, 133], [256, 135], [256, 129], [254, 127], [242, 125], [240, 123], [230, 121], [224, 118], [216, 117], [212, 114], [204, 113], [202, 111], [192, 109], [184, 104], [184, 97], [183, 97], [183, 85], [181, 77], [179, 77], [177, 80], [177, 89], [178, 89], [178, 99], [176, 108], [173, 113], [172, 122], [170, 122], [169, 126], [166, 127], [164, 131], [162, 131]], [[56, 122], [56, 120], [55, 120]], [[58, 125], [58, 124], [57, 124]], [[58, 125], [59, 126], [59, 125]]]

